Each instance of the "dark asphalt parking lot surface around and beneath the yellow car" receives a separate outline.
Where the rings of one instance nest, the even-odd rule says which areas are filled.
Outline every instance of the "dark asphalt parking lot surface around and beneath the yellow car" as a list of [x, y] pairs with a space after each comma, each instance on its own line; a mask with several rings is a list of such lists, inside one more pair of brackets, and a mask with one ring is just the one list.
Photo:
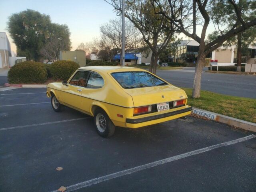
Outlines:
[[[45, 88], [0, 92], [0, 191], [256, 191], [256, 138], [189, 117], [101, 138]], [[57, 167], [63, 170], [57, 171]]]

